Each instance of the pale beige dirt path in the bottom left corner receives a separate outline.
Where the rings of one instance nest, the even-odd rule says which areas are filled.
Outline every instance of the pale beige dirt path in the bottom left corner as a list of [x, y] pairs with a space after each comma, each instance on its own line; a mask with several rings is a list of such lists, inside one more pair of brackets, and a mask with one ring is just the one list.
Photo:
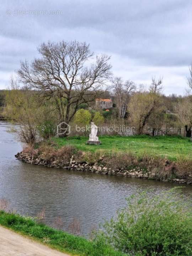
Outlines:
[[70, 256], [0, 226], [1, 256]]

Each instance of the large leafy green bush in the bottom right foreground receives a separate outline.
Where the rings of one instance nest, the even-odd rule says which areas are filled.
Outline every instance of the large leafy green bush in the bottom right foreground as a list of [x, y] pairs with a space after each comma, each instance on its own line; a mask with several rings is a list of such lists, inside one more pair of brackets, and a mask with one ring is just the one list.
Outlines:
[[175, 192], [129, 197], [127, 207], [103, 225], [96, 240], [102, 237], [114, 249], [134, 256], [192, 255], [191, 207], [173, 202]]

